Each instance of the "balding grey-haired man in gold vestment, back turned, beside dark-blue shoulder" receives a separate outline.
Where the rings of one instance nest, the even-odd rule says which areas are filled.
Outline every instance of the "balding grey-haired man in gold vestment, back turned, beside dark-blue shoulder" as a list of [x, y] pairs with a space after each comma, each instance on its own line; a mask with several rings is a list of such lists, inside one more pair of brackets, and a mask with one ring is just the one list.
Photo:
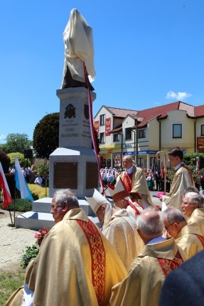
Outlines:
[[144, 211], [136, 219], [145, 247], [134, 259], [127, 278], [112, 288], [111, 306], [158, 306], [166, 275], [177, 268], [185, 255], [173, 238], [163, 238], [159, 211]]

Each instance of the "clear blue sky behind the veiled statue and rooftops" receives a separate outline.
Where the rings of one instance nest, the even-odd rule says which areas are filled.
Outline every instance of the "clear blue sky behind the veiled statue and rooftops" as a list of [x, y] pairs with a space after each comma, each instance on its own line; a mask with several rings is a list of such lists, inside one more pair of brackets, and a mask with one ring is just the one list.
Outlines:
[[93, 28], [102, 105], [144, 110], [176, 100], [204, 104], [203, 0], [1, 0], [0, 143], [59, 112], [63, 31], [71, 9]]

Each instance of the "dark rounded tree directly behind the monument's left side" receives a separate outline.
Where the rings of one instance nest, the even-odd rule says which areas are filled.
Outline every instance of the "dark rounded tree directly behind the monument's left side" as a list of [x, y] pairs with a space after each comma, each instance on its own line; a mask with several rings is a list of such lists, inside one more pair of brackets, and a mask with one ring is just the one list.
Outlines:
[[33, 132], [33, 149], [38, 158], [49, 158], [59, 144], [59, 112], [45, 115]]

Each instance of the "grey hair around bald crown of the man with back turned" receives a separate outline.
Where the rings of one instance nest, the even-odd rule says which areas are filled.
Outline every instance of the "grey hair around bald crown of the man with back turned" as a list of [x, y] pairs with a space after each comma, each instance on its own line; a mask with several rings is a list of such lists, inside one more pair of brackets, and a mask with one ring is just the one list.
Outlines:
[[[154, 211], [154, 216], [144, 216], [146, 211]], [[146, 209], [136, 218], [136, 227], [145, 235], [155, 235], [163, 231], [163, 218], [161, 211]]]

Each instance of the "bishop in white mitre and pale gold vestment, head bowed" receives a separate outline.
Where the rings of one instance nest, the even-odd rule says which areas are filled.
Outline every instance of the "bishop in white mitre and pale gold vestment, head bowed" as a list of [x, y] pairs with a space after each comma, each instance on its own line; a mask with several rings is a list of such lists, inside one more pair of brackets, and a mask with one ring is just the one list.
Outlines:
[[125, 268], [129, 270], [132, 260], [144, 246], [136, 231], [135, 218], [129, 216], [126, 209], [113, 207], [96, 189], [92, 198], [85, 199], [100, 221], [104, 222], [102, 233], [117, 251]]

